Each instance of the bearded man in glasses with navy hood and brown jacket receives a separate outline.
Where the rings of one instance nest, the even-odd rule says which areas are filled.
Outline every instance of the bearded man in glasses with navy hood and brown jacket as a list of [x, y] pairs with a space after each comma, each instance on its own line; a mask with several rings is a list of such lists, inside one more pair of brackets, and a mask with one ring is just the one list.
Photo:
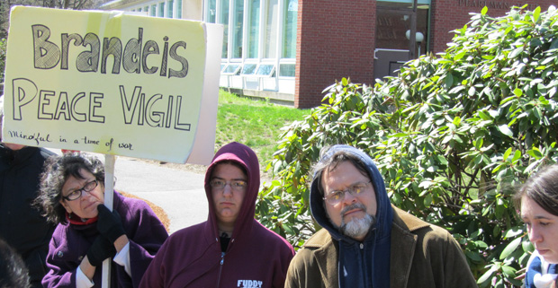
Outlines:
[[285, 287], [477, 287], [452, 235], [391, 205], [355, 147], [322, 149], [310, 202], [323, 229], [293, 258]]

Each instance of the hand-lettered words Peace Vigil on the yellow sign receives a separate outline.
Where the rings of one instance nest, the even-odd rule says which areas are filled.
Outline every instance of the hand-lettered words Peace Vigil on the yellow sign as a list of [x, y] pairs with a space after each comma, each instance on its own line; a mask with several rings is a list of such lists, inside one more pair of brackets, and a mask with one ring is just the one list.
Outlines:
[[[12, 92], [14, 100], [14, 120], [21, 121], [25, 116], [22, 109], [33, 106], [32, 114], [42, 120], [77, 121], [104, 123], [103, 99], [101, 92], [53, 92], [39, 90], [29, 79], [14, 79]], [[190, 131], [191, 124], [180, 121], [182, 96], [154, 94], [146, 96], [142, 87], [136, 86], [133, 92], [126, 92], [124, 85], [119, 86], [122, 119], [126, 125], [171, 128]], [[37, 97], [38, 96], [38, 97]], [[36, 107], [36, 109], [34, 109]], [[31, 114], [28, 114], [31, 116]]]

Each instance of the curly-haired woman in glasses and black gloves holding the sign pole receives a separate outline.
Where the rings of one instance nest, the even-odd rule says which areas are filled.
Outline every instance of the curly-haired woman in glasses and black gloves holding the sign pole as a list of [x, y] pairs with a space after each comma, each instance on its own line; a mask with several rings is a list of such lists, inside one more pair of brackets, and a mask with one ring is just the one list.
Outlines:
[[49, 243], [44, 287], [100, 287], [101, 264], [111, 258], [112, 287], [138, 287], [168, 237], [164, 225], [139, 199], [114, 191], [104, 203], [104, 165], [79, 153], [53, 156], [41, 176], [40, 205], [58, 224]]

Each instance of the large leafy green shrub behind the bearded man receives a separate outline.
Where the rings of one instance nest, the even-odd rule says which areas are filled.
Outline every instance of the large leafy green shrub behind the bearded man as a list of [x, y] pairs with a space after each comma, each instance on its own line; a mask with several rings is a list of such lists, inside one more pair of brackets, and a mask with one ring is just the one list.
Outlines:
[[474, 14], [446, 52], [415, 59], [374, 87], [343, 79], [284, 132], [262, 222], [293, 245], [311, 222], [311, 163], [328, 144], [373, 155], [392, 203], [451, 231], [481, 287], [520, 285], [529, 244], [514, 186], [558, 160], [558, 13]]

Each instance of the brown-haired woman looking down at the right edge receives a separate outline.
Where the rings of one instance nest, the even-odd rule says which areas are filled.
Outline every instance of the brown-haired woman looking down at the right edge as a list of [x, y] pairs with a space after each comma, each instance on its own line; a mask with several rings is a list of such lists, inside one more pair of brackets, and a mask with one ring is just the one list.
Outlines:
[[558, 165], [539, 170], [514, 196], [535, 252], [527, 263], [527, 288], [558, 287]]

